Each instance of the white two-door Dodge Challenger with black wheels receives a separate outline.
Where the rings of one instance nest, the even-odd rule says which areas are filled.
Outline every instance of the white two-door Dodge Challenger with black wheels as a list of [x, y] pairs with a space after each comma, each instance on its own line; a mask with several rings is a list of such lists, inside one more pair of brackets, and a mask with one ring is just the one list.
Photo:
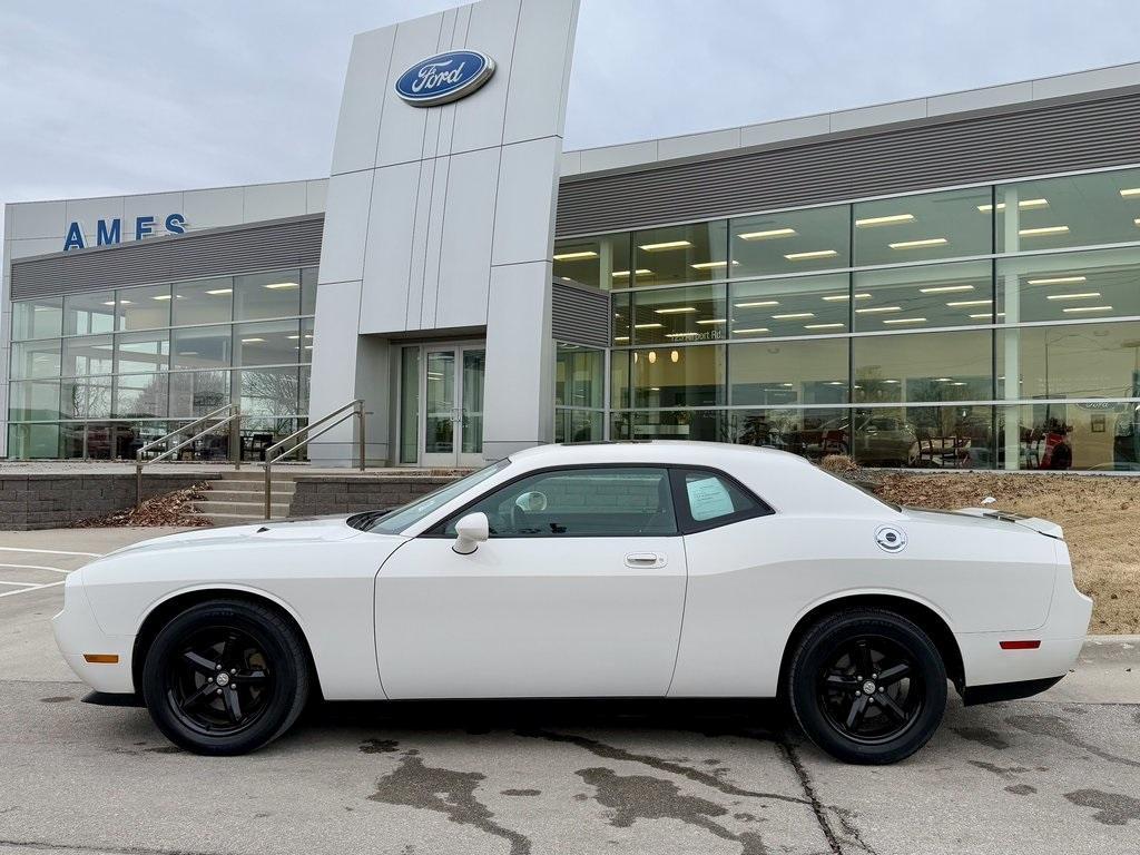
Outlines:
[[97, 692], [192, 751], [264, 746], [310, 697], [784, 698], [852, 763], [918, 750], [947, 679], [1024, 698], [1092, 601], [1058, 526], [881, 502], [800, 457], [544, 446], [388, 513], [188, 531], [67, 577]]

